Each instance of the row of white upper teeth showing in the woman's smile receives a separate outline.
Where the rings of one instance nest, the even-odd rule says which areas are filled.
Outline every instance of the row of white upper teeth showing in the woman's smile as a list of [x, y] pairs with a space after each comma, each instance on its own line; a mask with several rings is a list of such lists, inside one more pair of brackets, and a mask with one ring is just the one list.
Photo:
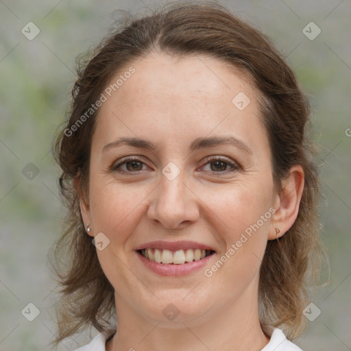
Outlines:
[[149, 258], [150, 261], [156, 261], [157, 263], [174, 263], [175, 265], [182, 265], [186, 262], [199, 261], [209, 254], [210, 250], [201, 249], [188, 249], [178, 250], [171, 252], [171, 250], [159, 250], [159, 249], [143, 249], [141, 254]]

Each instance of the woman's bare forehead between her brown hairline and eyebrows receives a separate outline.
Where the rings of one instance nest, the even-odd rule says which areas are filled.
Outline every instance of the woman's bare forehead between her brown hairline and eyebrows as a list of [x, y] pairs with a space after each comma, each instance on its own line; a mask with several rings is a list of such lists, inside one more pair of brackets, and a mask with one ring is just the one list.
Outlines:
[[247, 132], [260, 124], [256, 88], [239, 70], [235, 74], [233, 67], [210, 56], [151, 53], [125, 65], [108, 87], [96, 130], [106, 142], [116, 133], [193, 138], [195, 132]]

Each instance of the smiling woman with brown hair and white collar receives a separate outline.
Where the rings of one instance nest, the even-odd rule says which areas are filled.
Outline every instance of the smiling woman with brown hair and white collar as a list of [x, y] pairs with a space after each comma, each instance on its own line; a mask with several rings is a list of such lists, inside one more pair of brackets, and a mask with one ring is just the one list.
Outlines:
[[322, 247], [309, 109], [221, 5], [108, 36], [56, 144], [71, 258], [56, 342], [94, 326], [79, 350], [300, 350]]

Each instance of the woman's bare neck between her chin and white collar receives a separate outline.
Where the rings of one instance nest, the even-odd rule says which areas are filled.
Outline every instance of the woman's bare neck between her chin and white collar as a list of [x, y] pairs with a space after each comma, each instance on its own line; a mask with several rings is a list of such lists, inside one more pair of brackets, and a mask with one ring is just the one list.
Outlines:
[[171, 326], [144, 318], [120, 296], [115, 300], [120, 302], [116, 304], [118, 330], [106, 351], [259, 351], [269, 342], [252, 296], [243, 296], [213, 315], [173, 321]]

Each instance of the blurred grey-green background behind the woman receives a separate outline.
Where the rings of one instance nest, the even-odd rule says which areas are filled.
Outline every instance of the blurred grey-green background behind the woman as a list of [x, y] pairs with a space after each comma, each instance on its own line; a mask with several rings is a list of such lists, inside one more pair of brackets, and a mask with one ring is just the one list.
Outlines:
[[[320, 213], [330, 283], [313, 300], [321, 315], [308, 322], [308, 332], [296, 343], [306, 351], [351, 350], [351, 3], [220, 2], [274, 40], [311, 98], [315, 141], [321, 150]], [[136, 13], [160, 4], [0, 1], [0, 350], [49, 350], [56, 330], [50, 315], [56, 284], [47, 253], [60, 235], [64, 208], [58, 198], [59, 169], [50, 149], [68, 108], [75, 58], [99, 43], [121, 16], [115, 10]], [[322, 31], [314, 40], [302, 32], [311, 21]], [[37, 29], [26, 29], [29, 22], [40, 30], [35, 38], [30, 36]], [[29, 302], [40, 311], [33, 322], [23, 317]], [[93, 330], [64, 341], [59, 350], [72, 350], [95, 334]]]

